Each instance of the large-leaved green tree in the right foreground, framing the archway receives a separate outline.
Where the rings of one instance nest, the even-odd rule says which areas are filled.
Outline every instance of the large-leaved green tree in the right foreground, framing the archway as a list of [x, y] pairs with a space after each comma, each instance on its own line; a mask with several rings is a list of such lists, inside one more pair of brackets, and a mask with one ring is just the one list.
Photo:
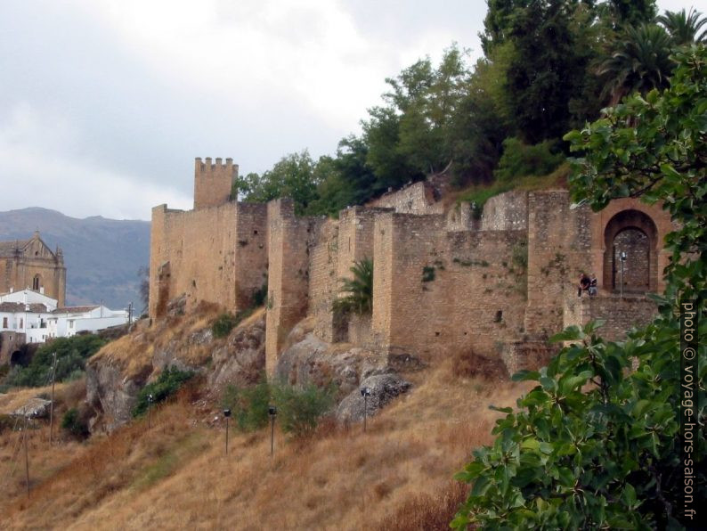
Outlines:
[[[679, 301], [700, 313], [695, 409], [704, 455], [707, 377], [707, 53], [680, 52], [670, 87], [631, 96], [604, 118], [565, 135], [573, 151], [573, 200], [601, 209], [619, 197], [662, 201], [677, 228], [660, 315], [622, 342], [597, 336], [600, 323], [570, 327], [574, 341], [548, 367], [516, 380], [538, 386], [497, 421], [492, 446], [475, 450], [459, 474], [473, 483], [452, 527], [489, 529], [679, 528], [684, 475], [679, 437]], [[631, 360], [638, 368], [630, 371]], [[589, 390], [583, 390], [591, 384]], [[695, 463], [695, 493], [705, 488]], [[694, 525], [694, 523], [693, 523]]]

